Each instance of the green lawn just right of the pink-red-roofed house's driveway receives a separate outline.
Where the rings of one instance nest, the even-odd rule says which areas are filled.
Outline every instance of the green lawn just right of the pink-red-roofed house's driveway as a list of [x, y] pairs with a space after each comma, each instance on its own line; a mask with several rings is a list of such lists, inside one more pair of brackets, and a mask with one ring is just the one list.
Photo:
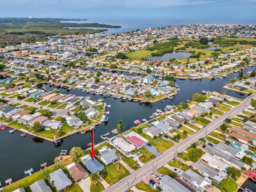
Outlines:
[[[170, 141], [166, 141], [162, 138], [156, 138], [156, 139], [152, 139], [150, 136], [146, 135], [145, 133], [141, 133], [140, 134], [142, 137], [146, 138], [147, 140], [149, 140], [149, 143], [154, 146], [154, 148], [156, 148], [156, 150], [160, 153], [165, 152], [166, 150], [170, 149], [172, 146], [174, 146], [174, 144]], [[159, 143], [158, 143], [159, 141]]]

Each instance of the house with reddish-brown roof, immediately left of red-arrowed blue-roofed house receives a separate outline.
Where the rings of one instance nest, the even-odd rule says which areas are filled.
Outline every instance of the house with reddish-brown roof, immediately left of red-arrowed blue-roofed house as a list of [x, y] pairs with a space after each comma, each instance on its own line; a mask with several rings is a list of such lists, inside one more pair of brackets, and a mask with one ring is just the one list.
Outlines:
[[78, 182], [89, 176], [89, 173], [83, 168], [79, 162], [73, 162], [66, 166], [67, 170], [75, 182]]

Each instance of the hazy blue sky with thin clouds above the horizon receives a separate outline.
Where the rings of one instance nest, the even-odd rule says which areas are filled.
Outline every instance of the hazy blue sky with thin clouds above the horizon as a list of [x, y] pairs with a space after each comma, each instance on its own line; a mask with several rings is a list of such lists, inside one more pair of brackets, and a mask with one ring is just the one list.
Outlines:
[[0, 0], [0, 17], [177, 17], [256, 20], [256, 0]]

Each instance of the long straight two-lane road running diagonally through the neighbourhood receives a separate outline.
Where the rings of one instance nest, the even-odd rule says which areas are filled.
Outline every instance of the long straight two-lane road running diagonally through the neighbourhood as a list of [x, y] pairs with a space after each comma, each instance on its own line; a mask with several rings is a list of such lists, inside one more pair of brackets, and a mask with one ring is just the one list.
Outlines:
[[103, 190], [103, 192], [126, 192], [128, 188], [132, 188], [132, 186], [141, 182], [146, 176], [152, 174], [154, 171], [158, 170], [160, 167], [164, 166], [167, 162], [173, 159], [176, 153], [182, 153], [184, 150], [189, 148], [192, 143], [198, 142], [200, 138], [214, 131], [216, 128], [224, 123], [224, 120], [226, 118], [232, 118], [236, 114], [244, 110], [247, 106], [250, 105], [251, 98], [253, 98], [254, 95], [255, 94], [249, 96], [239, 105], [232, 108], [229, 112], [220, 116], [220, 118], [214, 120], [204, 128], [200, 129], [198, 132], [182, 140], [181, 142], [164, 152], [162, 155], [158, 156], [154, 160], [151, 160], [150, 162], [148, 162], [138, 170], [132, 172], [122, 180], [106, 188], [105, 190]]

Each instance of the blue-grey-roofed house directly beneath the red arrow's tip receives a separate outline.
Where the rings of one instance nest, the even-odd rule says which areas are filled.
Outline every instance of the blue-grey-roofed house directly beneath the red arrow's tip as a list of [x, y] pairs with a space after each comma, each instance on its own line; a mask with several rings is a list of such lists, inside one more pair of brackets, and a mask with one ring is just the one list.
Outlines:
[[92, 160], [89, 155], [81, 157], [81, 160], [91, 173], [100, 173], [105, 168], [96, 158]]

